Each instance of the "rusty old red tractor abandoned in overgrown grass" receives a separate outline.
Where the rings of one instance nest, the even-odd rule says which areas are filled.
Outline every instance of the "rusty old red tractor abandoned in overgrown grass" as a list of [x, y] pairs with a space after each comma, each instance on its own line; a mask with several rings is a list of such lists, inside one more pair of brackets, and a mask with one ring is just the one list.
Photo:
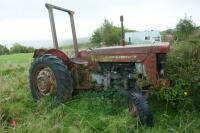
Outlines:
[[[51, 4], [45, 5], [49, 11], [54, 49], [36, 50], [29, 70], [29, 82], [32, 96], [40, 100], [53, 96], [64, 102], [72, 97], [75, 90], [106, 90], [112, 85], [119, 85], [128, 97], [128, 107], [132, 116], [142, 124], [152, 126], [153, 115], [145, 96], [150, 87], [165, 83], [160, 77], [163, 73], [163, 61], [169, 50], [168, 43], [122, 45], [78, 50], [75, 32], [74, 12]], [[67, 12], [70, 16], [75, 57], [58, 49], [53, 9]], [[137, 81], [145, 81], [142, 86]], [[121, 87], [120, 87], [121, 86]]]

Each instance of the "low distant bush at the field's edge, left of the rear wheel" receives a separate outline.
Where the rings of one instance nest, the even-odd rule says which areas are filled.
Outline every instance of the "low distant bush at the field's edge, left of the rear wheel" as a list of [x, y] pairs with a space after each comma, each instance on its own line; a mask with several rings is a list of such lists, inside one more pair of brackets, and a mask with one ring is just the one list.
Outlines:
[[10, 48], [10, 53], [31, 53], [31, 52], [34, 52], [33, 47], [25, 47], [18, 43], [14, 44]]

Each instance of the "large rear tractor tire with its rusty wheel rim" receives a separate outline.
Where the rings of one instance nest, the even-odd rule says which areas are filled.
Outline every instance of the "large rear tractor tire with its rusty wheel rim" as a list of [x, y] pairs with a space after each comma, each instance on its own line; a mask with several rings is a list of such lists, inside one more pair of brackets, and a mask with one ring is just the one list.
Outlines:
[[34, 100], [53, 96], [64, 102], [72, 97], [73, 80], [67, 66], [61, 59], [45, 54], [34, 59], [29, 69], [29, 85]]

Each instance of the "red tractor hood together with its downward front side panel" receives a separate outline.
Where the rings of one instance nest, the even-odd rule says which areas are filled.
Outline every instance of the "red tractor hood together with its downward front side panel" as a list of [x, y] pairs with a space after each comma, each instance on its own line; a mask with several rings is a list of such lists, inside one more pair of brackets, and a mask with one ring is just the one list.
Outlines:
[[79, 56], [80, 58], [89, 60], [90, 65], [96, 65], [97, 62], [143, 63], [149, 84], [157, 86], [159, 76], [156, 54], [167, 53], [168, 51], [169, 43], [161, 43], [97, 48], [92, 51], [81, 52]]

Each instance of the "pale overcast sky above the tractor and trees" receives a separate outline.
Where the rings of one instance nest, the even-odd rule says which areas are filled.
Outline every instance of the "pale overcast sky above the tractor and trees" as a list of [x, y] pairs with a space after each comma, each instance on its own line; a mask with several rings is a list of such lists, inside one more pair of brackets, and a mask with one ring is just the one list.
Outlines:
[[[44, 4], [52, 3], [75, 11], [78, 37], [89, 37], [106, 18], [126, 28], [165, 30], [180, 18], [192, 16], [200, 24], [199, 0], [0, 0], [0, 43], [51, 39], [49, 17]], [[55, 12], [59, 38], [71, 38], [67, 14]]]

